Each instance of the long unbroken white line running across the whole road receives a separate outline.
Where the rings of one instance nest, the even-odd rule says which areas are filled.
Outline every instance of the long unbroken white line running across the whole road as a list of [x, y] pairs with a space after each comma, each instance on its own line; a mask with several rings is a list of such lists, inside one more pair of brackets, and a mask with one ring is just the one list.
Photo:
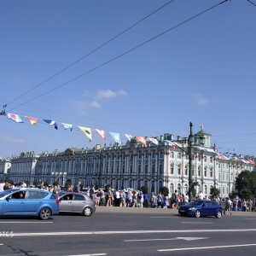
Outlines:
[[125, 230], [125, 231], [94, 231], [94, 232], [47, 232], [47, 233], [14, 233], [14, 236], [73, 236], [73, 235], [115, 235], [115, 234], [156, 234], [156, 233], [199, 233], [199, 232], [248, 232], [247, 230]]

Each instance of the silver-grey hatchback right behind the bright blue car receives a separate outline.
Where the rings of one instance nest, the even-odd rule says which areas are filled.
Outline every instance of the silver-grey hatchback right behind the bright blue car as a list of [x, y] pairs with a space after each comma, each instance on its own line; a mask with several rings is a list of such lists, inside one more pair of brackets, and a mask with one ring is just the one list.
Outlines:
[[83, 193], [65, 192], [57, 196], [60, 201], [60, 212], [82, 213], [88, 217], [96, 211], [94, 201]]

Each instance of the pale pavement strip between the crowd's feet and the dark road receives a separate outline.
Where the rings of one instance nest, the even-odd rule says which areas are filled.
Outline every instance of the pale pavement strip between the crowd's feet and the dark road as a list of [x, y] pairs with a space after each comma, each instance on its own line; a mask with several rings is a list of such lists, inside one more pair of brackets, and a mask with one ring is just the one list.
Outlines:
[[[138, 208], [138, 207], [96, 207], [96, 212], [121, 212], [121, 213], [148, 213], [148, 214], [171, 214], [177, 215], [177, 209], [163, 208]], [[230, 215], [230, 214], [226, 214]], [[256, 217], [256, 212], [232, 212], [231, 216], [253, 216]]]

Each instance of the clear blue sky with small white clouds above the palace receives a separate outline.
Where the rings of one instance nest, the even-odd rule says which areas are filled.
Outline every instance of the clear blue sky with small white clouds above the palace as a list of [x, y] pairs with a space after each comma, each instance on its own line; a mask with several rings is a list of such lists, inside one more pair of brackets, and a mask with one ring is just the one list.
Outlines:
[[0, 108], [24, 123], [0, 116], [0, 156], [108, 145], [108, 131], [188, 137], [190, 121], [219, 152], [256, 155], [256, 1], [169, 2], [1, 1]]

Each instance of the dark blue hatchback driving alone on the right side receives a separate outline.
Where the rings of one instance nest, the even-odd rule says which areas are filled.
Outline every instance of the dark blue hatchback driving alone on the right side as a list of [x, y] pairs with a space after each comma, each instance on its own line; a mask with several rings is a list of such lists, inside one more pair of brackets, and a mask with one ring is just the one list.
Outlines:
[[178, 213], [182, 216], [188, 215], [195, 216], [196, 218], [200, 218], [201, 216], [221, 218], [222, 207], [216, 201], [195, 200], [179, 207]]

